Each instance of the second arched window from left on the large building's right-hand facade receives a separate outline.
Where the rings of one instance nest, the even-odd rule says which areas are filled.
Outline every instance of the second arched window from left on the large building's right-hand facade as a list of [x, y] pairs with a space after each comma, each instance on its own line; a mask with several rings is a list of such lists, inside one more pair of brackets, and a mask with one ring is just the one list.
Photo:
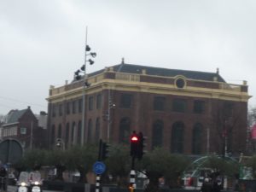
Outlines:
[[156, 120], [152, 129], [152, 149], [162, 146], [164, 123], [162, 120]]

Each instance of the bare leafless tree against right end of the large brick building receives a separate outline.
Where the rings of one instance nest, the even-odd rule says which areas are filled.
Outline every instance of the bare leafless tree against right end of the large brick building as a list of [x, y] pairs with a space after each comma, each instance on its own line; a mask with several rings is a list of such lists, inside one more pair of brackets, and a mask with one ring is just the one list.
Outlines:
[[218, 102], [212, 110], [212, 133], [218, 154], [245, 152], [247, 140], [247, 105], [237, 102]]

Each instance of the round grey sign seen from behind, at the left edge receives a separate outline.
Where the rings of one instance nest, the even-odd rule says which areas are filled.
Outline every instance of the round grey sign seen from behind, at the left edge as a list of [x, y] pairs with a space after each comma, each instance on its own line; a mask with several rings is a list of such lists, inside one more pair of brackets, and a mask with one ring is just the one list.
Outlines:
[[0, 161], [3, 164], [15, 164], [22, 157], [23, 149], [15, 139], [6, 139], [0, 143]]

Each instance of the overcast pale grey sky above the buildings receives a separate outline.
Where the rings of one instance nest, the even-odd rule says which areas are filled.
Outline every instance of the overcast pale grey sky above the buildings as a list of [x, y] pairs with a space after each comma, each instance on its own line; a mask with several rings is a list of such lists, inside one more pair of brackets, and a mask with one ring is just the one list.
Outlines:
[[126, 63], [216, 72], [247, 80], [256, 100], [254, 0], [0, 0], [0, 114], [47, 111], [49, 85], [84, 63], [85, 26], [93, 72]]

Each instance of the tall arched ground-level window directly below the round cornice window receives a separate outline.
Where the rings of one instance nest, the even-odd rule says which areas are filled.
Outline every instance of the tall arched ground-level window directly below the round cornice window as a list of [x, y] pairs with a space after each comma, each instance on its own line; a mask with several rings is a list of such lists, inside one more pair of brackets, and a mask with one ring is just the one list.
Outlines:
[[172, 125], [171, 152], [177, 154], [183, 153], [183, 141], [184, 124], [182, 121], [177, 121]]

